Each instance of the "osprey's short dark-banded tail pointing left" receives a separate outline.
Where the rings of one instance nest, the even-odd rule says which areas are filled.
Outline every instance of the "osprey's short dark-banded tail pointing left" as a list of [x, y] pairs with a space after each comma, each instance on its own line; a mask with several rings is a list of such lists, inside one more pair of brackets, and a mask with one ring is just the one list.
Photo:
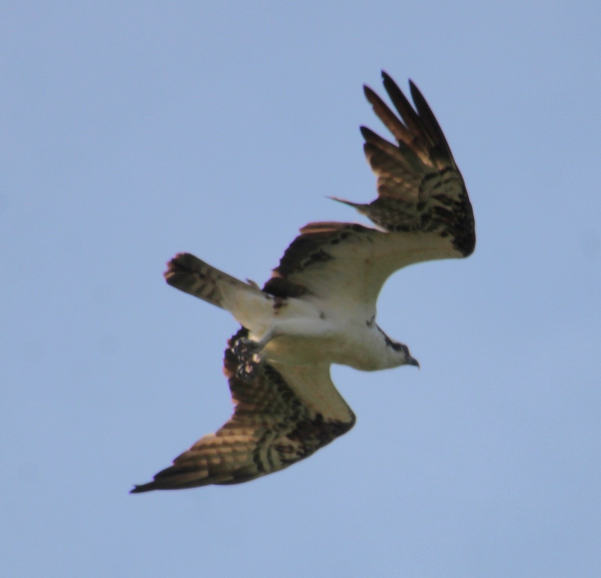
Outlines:
[[165, 281], [221, 308], [224, 308], [224, 290], [228, 287], [261, 293], [255, 285], [239, 281], [189, 253], [179, 253], [167, 263]]

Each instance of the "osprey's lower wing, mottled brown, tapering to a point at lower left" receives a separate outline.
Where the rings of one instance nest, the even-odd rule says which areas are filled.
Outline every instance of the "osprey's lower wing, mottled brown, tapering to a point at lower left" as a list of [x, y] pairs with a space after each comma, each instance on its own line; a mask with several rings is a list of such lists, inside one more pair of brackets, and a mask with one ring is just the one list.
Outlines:
[[328, 365], [276, 369], [263, 363], [251, 383], [239, 379], [234, 347], [247, 335], [240, 329], [225, 350], [235, 406], [230, 420], [131, 493], [250, 481], [308, 457], [353, 426], [355, 415], [335, 389]]

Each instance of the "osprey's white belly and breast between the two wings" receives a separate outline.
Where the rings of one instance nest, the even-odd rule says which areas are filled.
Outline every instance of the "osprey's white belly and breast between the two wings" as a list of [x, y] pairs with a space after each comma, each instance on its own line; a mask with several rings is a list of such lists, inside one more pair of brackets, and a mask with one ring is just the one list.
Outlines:
[[222, 305], [264, 345], [264, 359], [279, 364], [340, 364], [376, 371], [406, 364], [364, 311], [332, 308], [316, 297], [281, 301], [255, 288], [221, 285]]

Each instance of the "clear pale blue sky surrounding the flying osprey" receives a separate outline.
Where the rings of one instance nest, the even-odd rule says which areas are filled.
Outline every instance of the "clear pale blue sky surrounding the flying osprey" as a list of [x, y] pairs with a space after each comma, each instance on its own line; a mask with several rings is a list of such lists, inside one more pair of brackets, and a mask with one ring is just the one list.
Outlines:
[[[601, 576], [599, 2], [3, 2], [0, 573]], [[263, 282], [362, 221], [362, 94], [412, 78], [475, 254], [393, 276], [421, 371], [334, 368], [355, 428], [284, 472], [130, 496], [230, 415], [228, 314], [189, 251]]]

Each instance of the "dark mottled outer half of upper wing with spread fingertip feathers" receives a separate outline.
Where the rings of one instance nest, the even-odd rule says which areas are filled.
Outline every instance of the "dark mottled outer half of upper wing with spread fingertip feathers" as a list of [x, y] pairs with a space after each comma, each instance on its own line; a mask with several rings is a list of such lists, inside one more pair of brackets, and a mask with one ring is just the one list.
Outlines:
[[400, 118], [371, 88], [364, 87], [365, 96], [397, 144], [361, 127], [365, 156], [377, 175], [378, 198], [367, 205], [351, 204], [387, 231], [448, 238], [466, 257], [475, 246], [474, 213], [447, 139], [412, 82], [415, 109], [385, 72], [382, 77]]

